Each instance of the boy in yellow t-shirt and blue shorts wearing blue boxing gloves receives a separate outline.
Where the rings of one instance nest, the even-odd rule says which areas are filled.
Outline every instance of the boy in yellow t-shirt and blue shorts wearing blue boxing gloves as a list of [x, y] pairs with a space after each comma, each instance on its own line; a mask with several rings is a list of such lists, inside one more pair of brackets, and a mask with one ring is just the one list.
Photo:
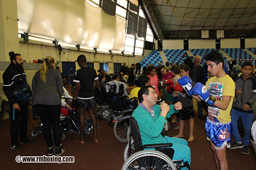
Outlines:
[[193, 87], [193, 98], [209, 104], [209, 115], [206, 120], [206, 136], [211, 141], [211, 148], [217, 170], [228, 170], [226, 148], [230, 147], [232, 122], [230, 111], [235, 97], [235, 82], [226, 75], [224, 59], [218, 51], [211, 51], [204, 58], [212, 77], [204, 86], [196, 83]]

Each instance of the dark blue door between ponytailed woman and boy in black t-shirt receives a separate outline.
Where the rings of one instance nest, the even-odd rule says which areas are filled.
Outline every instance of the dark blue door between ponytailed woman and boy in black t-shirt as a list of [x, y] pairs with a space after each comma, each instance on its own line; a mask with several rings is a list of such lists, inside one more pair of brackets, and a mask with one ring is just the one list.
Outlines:
[[62, 73], [66, 78], [66, 85], [72, 84], [76, 71], [76, 63], [71, 61], [62, 61]]

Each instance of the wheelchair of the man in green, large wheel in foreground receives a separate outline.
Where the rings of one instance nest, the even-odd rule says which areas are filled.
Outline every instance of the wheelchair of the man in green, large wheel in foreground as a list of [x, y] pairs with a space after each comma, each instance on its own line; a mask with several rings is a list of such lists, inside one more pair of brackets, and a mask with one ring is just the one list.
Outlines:
[[[171, 143], [167, 144], [147, 144], [142, 146], [142, 140], [140, 136], [140, 130], [137, 125], [137, 121], [132, 116], [123, 116], [118, 119], [129, 119], [130, 132], [129, 142], [124, 151], [124, 161], [122, 170], [180, 170], [185, 167], [187, 170], [191, 170], [187, 162], [183, 160], [172, 160], [174, 155], [174, 149], [171, 147]], [[131, 139], [133, 135], [133, 139]], [[155, 150], [143, 150], [153, 149]]]

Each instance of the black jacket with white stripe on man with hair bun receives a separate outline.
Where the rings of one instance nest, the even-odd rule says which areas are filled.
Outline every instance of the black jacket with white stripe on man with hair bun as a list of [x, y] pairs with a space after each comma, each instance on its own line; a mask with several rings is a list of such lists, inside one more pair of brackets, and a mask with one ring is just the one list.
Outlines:
[[5, 70], [3, 76], [3, 91], [5, 92], [6, 97], [8, 98], [9, 105], [13, 105], [18, 103], [18, 105], [28, 104], [29, 100], [24, 102], [23, 100], [19, 100], [14, 94], [13, 91], [15, 89], [19, 89], [22, 85], [24, 85], [26, 80], [26, 73], [24, 72], [24, 68], [20, 68], [19, 66], [11, 63], [8, 68]]

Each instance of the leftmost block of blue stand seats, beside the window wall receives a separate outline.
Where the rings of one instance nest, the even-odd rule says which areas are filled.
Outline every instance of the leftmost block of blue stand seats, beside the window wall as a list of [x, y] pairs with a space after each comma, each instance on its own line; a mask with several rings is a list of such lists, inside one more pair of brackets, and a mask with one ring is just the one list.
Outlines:
[[140, 61], [141, 68], [147, 67], [147, 65], [151, 64], [154, 66], [158, 66], [158, 63], [163, 63], [162, 58], [158, 50], [153, 50], [147, 55], [142, 61]]

